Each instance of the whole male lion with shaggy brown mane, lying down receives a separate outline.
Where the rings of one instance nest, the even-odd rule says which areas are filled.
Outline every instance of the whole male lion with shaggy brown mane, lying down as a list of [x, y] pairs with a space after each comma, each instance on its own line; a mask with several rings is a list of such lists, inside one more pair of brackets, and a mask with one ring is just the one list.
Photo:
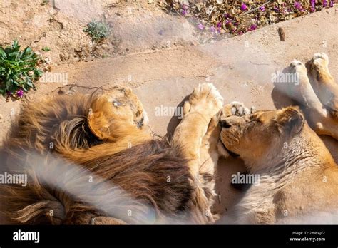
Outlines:
[[1, 212], [17, 224], [214, 222], [222, 101], [210, 83], [195, 88], [170, 142], [153, 138], [129, 88], [24, 105], [1, 170], [28, 185], [1, 186]]

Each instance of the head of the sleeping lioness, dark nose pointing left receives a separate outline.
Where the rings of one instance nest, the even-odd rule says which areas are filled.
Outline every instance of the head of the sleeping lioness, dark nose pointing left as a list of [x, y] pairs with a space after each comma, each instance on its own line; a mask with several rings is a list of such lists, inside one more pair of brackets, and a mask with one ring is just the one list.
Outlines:
[[[251, 115], [220, 117], [219, 149], [256, 162], [275, 155], [304, 126], [297, 107], [257, 111]], [[222, 153], [222, 150], [220, 150]]]

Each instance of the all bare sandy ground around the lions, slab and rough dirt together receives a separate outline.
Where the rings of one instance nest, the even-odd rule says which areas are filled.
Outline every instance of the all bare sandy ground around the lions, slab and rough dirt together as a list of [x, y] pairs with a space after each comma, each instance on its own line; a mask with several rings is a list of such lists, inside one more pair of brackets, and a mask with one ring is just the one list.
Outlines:
[[[5, 4], [6, 2], [13, 4], [9, 0], [4, 2]], [[31, 9], [34, 8], [43, 10], [42, 8], [45, 7], [31, 6]], [[170, 19], [171, 22], [165, 21], [159, 26], [154, 26], [153, 23], [161, 18], [158, 16], [165, 16], [157, 11], [152, 12], [153, 16], [150, 16], [145, 22], [147, 27], [144, 33], [142, 31], [139, 33], [128, 33], [128, 31], [126, 33], [122, 29], [122, 19], [119, 19], [121, 14], [113, 14], [116, 9], [111, 12], [101, 9], [97, 11], [83, 10], [85, 14], [78, 16], [72, 10], [71, 5], [68, 5], [68, 9], [59, 6], [58, 9], [61, 10], [56, 12], [51, 7], [46, 8], [48, 11], [44, 16], [41, 16], [41, 30], [34, 30], [31, 36], [26, 33], [24, 43], [26, 42], [26, 45], [36, 43], [36, 48], [42, 48], [46, 46], [46, 43], [43, 43], [43, 37], [34, 42], [33, 37], [37, 35], [34, 32], [38, 32], [38, 34], [41, 31], [45, 32], [46, 37], [60, 35], [61, 38], [56, 38], [54, 43], [48, 46], [53, 47], [55, 44], [58, 47], [58, 52], [67, 53], [67, 55], [66, 58], [63, 58], [64, 56], [60, 56], [61, 53], [51, 53], [51, 59], [56, 61], [51, 73], [66, 76], [67, 85], [65, 86], [64, 82], [56, 82], [56, 80], [48, 83], [40, 82], [37, 84], [39, 90], [32, 91], [26, 95], [24, 100], [36, 100], [42, 95], [73, 94], [96, 88], [130, 86], [142, 100], [148, 112], [150, 127], [160, 136], [173, 133], [175, 126], [179, 123], [179, 117], [164, 112], [159, 114], [158, 111], [182, 105], [185, 96], [198, 83], [206, 81], [214, 83], [225, 98], [225, 103], [238, 100], [248, 106], [254, 105], [257, 109], [275, 109], [290, 105], [291, 102], [287, 98], [281, 97], [280, 93], [276, 91], [272, 74], [282, 71], [294, 58], [306, 62], [312, 58], [314, 53], [325, 52], [331, 61], [329, 68], [332, 75], [336, 80], [338, 78], [337, 6], [302, 18], [267, 26], [243, 36], [203, 46], [196, 45], [193, 28], [183, 19], [166, 16], [165, 18]], [[132, 12], [132, 20], [135, 21], [135, 24], [130, 21], [130, 25], [135, 26], [144, 19], [149, 10], [147, 8], [137, 10], [137, 7], [133, 10], [138, 14]], [[32, 15], [36, 16], [34, 10], [32, 11]], [[126, 11], [125, 7], [123, 11], [122, 13], [128, 18], [129, 9]], [[101, 53], [109, 53], [112, 58], [81, 61], [74, 49], [81, 51], [83, 47], [87, 47], [89, 41], [84, 39], [88, 37], [76, 34], [78, 37], [78, 43], [76, 43], [77, 41], [68, 41], [66, 38], [68, 36], [64, 32], [68, 32], [67, 35], [72, 35], [73, 32], [78, 33], [75, 31], [76, 29], [82, 29], [83, 23], [96, 17], [92, 16], [94, 12], [95, 14], [102, 12], [108, 16], [115, 15], [108, 19], [111, 20], [112, 25], [116, 25], [116, 29], [114, 29], [116, 34], [108, 41], [106, 48], [101, 51]], [[16, 18], [19, 19], [19, 16]], [[51, 16], [58, 20], [58, 24], [51, 24], [48, 21], [49, 23], [43, 26], [43, 21], [50, 19]], [[141, 19], [142, 16], [143, 19]], [[27, 16], [26, 19], [28, 19]], [[61, 19], [63, 21], [60, 21]], [[68, 25], [71, 28], [67, 29], [67, 20], [71, 20], [72, 24], [75, 22], [78, 26]], [[62, 27], [58, 27], [54, 31], [49, 29], [51, 25], [59, 26], [59, 22], [63, 23], [63, 29], [66, 30], [63, 30]], [[5, 24], [0, 21], [0, 31], [4, 25], [9, 25], [8, 21]], [[21, 29], [25, 27], [22, 26]], [[277, 29], [279, 27], [285, 30], [284, 42], [280, 41], [278, 36]], [[16, 36], [19, 29], [6, 31], [8, 40]], [[164, 38], [162, 37], [163, 33], [160, 34], [163, 29], [164, 33], [168, 32]], [[82, 48], [81, 43], [83, 43]], [[74, 46], [78, 46], [78, 48], [74, 48]], [[74, 63], [73, 58], [79, 62]], [[0, 104], [1, 139], [5, 137], [11, 120], [15, 118], [21, 103], [20, 101], [6, 103], [5, 99], [1, 97]], [[322, 137], [322, 139], [338, 162], [338, 142], [329, 137]], [[254, 146], [255, 144], [253, 144], [253, 149]], [[230, 185], [231, 175], [238, 171], [244, 172], [245, 167], [241, 160], [230, 157], [220, 160], [217, 171], [217, 193], [220, 194], [220, 197], [217, 199], [215, 210], [225, 216], [220, 223], [226, 223], [227, 212], [231, 211], [232, 206], [241, 197], [241, 192]]]

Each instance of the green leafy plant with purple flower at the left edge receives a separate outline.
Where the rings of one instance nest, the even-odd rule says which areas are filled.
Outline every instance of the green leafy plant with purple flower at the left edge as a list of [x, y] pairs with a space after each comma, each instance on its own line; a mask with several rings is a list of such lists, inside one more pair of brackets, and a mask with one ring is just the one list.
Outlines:
[[21, 98], [24, 91], [35, 88], [34, 81], [43, 74], [37, 68], [39, 59], [29, 47], [20, 51], [18, 41], [0, 46], [0, 94]]

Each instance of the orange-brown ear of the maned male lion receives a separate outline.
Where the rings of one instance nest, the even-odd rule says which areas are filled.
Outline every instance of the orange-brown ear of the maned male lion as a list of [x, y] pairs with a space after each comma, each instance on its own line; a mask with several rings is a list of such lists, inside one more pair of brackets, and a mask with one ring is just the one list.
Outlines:
[[103, 112], [89, 113], [87, 122], [89, 129], [97, 138], [105, 140], [111, 136], [110, 124]]

